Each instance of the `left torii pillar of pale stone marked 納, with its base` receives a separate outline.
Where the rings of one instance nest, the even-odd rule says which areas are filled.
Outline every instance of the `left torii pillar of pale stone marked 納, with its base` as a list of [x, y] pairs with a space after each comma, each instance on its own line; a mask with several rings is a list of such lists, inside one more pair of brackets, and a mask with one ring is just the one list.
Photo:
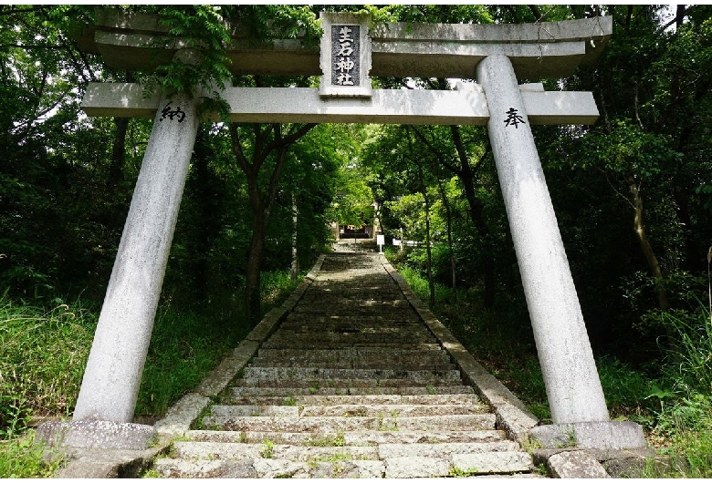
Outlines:
[[[176, 56], [184, 63], [193, 58], [190, 51]], [[116, 435], [119, 447], [145, 447], [155, 435], [152, 426], [131, 421], [197, 135], [197, 106], [198, 96], [162, 96], [74, 417], [60, 427], [60, 437], [68, 446], [113, 447], [106, 439]], [[45, 431], [57, 433], [57, 429]]]

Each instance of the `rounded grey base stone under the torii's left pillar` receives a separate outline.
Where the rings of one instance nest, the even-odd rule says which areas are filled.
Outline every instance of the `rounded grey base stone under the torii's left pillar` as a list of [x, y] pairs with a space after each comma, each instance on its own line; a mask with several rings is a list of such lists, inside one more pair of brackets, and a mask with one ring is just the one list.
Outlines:
[[50, 447], [146, 449], [157, 437], [153, 426], [112, 421], [50, 421], [37, 428], [37, 439]]

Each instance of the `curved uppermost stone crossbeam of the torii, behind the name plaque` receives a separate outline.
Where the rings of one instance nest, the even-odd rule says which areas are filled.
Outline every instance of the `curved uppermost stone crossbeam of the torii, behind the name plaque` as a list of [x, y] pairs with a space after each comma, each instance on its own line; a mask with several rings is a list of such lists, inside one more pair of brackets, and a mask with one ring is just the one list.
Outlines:
[[[261, 46], [236, 27], [227, 57], [234, 74], [320, 76], [319, 50], [297, 40]], [[509, 57], [517, 77], [571, 76], [599, 57], [613, 32], [610, 16], [537, 24], [473, 25], [395, 23], [371, 27], [372, 76], [473, 76], [473, 65], [493, 54]], [[150, 45], [167, 45], [167, 48]], [[79, 46], [101, 54], [108, 66], [141, 70], [171, 62], [184, 45], [168, 36], [156, 15], [99, 9]], [[543, 57], [546, 61], [542, 61]]]

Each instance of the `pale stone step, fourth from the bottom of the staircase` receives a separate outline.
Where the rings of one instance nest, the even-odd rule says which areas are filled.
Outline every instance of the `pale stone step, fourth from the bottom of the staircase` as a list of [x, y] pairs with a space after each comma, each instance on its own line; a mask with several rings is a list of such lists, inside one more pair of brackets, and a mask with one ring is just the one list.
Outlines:
[[228, 431], [339, 432], [339, 431], [473, 431], [495, 429], [493, 414], [449, 416], [205, 416], [207, 428]]

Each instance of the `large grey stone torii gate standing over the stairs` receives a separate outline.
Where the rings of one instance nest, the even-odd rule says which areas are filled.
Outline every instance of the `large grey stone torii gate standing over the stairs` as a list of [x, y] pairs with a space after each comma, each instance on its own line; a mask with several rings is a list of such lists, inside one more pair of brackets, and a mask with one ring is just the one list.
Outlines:
[[[487, 125], [517, 252], [554, 430], [592, 446], [640, 447], [639, 426], [610, 422], [591, 344], [531, 133], [532, 124], [592, 124], [590, 92], [546, 92], [518, 78], [566, 77], [592, 63], [611, 17], [525, 25], [389, 24], [322, 14], [320, 54], [298, 41], [256, 47], [236, 37], [235, 74], [321, 76], [319, 89], [227, 87], [235, 122]], [[145, 69], [193, 51], [170, 41], [148, 15], [104, 11], [79, 45], [110, 67]], [[161, 41], [165, 48], [155, 47]], [[370, 76], [476, 78], [454, 91], [373, 90]], [[131, 426], [163, 273], [201, 119], [199, 96], [135, 84], [90, 84], [89, 116], [152, 117], [151, 139], [131, 200], [72, 424]], [[559, 425], [559, 426], [557, 426]], [[135, 426], [135, 425], [134, 425]], [[540, 428], [536, 428], [540, 429]], [[617, 441], [611, 443], [611, 441]]]

